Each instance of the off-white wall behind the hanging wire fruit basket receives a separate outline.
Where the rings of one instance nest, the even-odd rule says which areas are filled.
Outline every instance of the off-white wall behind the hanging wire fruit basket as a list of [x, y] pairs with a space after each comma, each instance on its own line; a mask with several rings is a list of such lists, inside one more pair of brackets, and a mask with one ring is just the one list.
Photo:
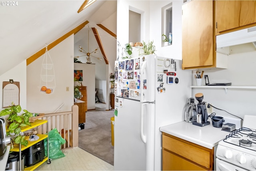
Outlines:
[[[56, 87], [52, 94], [40, 92], [40, 75], [44, 55], [27, 66], [27, 109], [34, 113], [70, 111], [74, 105], [74, 35], [49, 50], [54, 65]], [[69, 91], [66, 91], [69, 87]]]

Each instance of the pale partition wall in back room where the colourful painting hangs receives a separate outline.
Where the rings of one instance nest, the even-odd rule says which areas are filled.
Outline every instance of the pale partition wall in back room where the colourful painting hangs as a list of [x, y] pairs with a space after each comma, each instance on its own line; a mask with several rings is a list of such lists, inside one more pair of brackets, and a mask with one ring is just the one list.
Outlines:
[[[95, 64], [73, 63], [74, 70], [83, 70], [83, 86], [87, 86], [87, 109], [95, 109]], [[73, 71], [74, 73], [74, 71]], [[80, 85], [74, 82], [74, 86]]]

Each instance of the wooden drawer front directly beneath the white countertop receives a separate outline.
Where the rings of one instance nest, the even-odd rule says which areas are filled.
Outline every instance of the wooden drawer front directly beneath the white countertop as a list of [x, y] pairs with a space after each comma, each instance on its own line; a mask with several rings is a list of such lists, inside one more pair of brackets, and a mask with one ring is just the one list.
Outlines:
[[163, 149], [167, 149], [208, 169], [212, 168], [214, 151], [163, 133]]

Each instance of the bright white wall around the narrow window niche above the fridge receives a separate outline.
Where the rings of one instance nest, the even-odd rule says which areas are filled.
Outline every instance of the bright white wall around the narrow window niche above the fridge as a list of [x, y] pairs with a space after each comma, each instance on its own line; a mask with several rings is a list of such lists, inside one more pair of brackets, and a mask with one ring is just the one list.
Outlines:
[[[164, 32], [162, 8], [172, 3], [172, 45], [162, 47]], [[165, 58], [182, 60], [182, 4], [183, 0], [150, 1], [150, 40], [154, 40], [156, 54]], [[166, 35], [168, 37], [168, 35]]]

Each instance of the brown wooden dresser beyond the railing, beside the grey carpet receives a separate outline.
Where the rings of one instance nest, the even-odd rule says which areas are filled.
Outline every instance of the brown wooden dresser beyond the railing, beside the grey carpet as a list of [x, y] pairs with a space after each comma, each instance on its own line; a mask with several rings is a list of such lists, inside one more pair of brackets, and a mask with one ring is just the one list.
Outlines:
[[80, 86], [79, 90], [81, 91], [83, 97], [80, 99], [84, 102], [74, 103], [78, 105], [78, 123], [86, 122], [86, 111], [87, 111], [87, 86]]

